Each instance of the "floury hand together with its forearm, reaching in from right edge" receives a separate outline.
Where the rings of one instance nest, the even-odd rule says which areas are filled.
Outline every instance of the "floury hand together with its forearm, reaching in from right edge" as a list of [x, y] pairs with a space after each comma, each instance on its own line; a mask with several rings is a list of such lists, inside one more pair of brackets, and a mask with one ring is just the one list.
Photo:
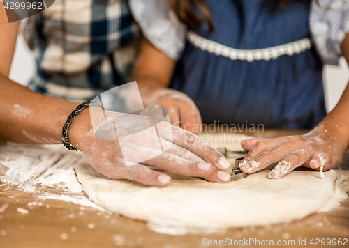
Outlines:
[[[349, 34], [341, 43], [343, 56], [349, 64]], [[250, 150], [239, 166], [242, 171], [254, 173], [269, 164], [278, 163], [269, 178], [282, 178], [298, 166], [328, 170], [341, 162], [349, 148], [349, 84], [336, 107], [311, 132], [292, 137], [260, 141], [243, 141]], [[322, 175], [322, 174], [321, 174]]]

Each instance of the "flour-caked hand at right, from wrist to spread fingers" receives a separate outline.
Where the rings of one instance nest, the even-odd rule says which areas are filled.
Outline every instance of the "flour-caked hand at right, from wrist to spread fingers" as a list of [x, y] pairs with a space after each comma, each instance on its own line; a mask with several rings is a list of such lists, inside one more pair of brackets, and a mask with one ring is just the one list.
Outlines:
[[335, 168], [348, 149], [345, 143], [319, 125], [304, 135], [279, 137], [272, 140], [245, 140], [242, 146], [249, 150], [240, 162], [240, 169], [255, 173], [270, 164], [278, 163], [269, 172], [269, 178], [279, 179], [299, 166], [315, 170]]

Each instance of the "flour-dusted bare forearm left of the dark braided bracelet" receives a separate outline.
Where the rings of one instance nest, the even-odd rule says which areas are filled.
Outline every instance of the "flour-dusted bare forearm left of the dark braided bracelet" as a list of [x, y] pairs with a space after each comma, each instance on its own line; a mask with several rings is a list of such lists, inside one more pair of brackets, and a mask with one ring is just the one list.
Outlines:
[[31, 144], [59, 144], [78, 103], [40, 95], [0, 75], [0, 137]]

